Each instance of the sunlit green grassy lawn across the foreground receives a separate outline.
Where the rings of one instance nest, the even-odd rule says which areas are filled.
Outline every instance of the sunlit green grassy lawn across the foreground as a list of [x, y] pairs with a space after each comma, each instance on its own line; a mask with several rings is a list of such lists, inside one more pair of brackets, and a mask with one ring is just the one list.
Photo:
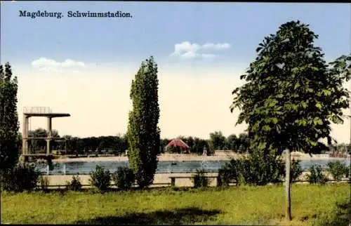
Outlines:
[[[291, 225], [348, 225], [350, 185], [293, 185]], [[1, 193], [1, 223], [287, 225], [284, 187]]]

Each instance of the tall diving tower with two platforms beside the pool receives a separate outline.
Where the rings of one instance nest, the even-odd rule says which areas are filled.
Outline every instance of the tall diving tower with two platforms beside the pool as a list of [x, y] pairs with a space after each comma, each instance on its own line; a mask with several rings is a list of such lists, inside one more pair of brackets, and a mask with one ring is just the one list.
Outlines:
[[[58, 117], [70, 117], [68, 113], [54, 113], [50, 107], [24, 107], [23, 108], [23, 128], [22, 128], [22, 154], [21, 159], [28, 161], [28, 157], [39, 157], [43, 159], [51, 159], [54, 155], [51, 153], [51, 140], [65, 140], [65, 138], [53, 138], [52, 133], [52, 119]], [[30, 117], [46, 117], [48, 126], [46, 131], [48, 136], [46, 138], [29, 138], [29, 118]], [[29, 154], [28, 140], [46, 140], [46, 154]]]

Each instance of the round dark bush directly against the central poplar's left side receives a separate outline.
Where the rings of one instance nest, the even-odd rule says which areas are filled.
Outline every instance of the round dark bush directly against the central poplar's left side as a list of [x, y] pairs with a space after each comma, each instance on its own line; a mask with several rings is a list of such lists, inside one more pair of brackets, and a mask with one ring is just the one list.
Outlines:
[[112, 175], [112, 180], [121, 190], [129, 190], [135, 181], [135, 175], [131, 168], [120, 166]]

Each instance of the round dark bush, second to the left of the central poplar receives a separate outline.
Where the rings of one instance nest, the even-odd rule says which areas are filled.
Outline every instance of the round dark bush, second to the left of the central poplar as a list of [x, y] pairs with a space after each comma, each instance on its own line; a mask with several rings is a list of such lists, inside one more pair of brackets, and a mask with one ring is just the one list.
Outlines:
[[91, 185], [98, 188], [98, 190], [106, 191], [110, 188], [110, 171], [105, 170], [102, 166], [96, 166], [95, 171], [91, 171], [89, 174], [91, 176]]

